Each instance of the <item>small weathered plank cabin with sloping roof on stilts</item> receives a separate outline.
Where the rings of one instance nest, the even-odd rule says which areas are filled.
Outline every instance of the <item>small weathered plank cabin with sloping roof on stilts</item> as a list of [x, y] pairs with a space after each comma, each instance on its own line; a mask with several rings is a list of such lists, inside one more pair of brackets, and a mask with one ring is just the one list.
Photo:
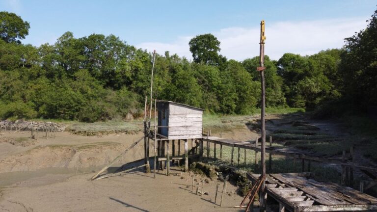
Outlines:
[[157, 100], [158, 133], [167, 140], [202, 138], [203, 109]]

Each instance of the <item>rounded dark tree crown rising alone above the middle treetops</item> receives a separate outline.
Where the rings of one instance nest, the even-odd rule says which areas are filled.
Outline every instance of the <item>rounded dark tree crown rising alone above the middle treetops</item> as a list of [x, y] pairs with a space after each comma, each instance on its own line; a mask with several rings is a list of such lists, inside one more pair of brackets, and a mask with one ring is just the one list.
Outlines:
[[220, 41], [213, 34], [198, 35], [188, 42], [194, 62], [205, 64], [218, 64]]

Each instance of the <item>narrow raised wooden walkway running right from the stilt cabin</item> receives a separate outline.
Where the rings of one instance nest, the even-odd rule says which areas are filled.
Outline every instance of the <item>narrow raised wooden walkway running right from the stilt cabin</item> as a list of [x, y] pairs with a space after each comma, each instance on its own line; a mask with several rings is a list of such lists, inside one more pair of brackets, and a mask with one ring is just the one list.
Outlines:
[[[256, 152], [261, 152], [261, 145], [256, 144], [255, 141], [236, 141], [229, 138], [222, 138], [217, 136], [207, 136], [203, 135], [203, 140], [215, 143], [219, 145], [229, 146], [229, 147], [236, 147], [236, 148], [243, 148], [243, 149], [250, 149]], [[209, 145], [207, 145], [209, 148]], [[208, 151], [208, 150], [207, 150]], [[272, 155], [281, 155], [287, 156], [294, 159], [302, 159], [308, 161], [318, 161], [318, 162], [326, 162], [326, 163], [335, 163], [342, 166], [358, 168], [362, 170], [369, 170], [369, 171], [377, 171], [376, 167], [370, 166], [362, 166], [354, 164], [350, 158], [344, 159], [337, 155], [326, 155], [322, 153], [316, 153], [313, 151], [306, 151], [306, 150], [299, 150], [294, 148], [287, 148], [287, 147], [273, 147], [269, 146], [268, 142], [266, 142], [266, 153]]]

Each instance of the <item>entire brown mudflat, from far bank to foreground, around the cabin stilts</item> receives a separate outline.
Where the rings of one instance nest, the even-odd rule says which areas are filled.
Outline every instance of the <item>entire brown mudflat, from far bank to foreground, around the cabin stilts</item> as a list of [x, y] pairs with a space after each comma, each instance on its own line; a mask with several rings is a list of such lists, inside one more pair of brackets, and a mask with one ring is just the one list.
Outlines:
[[[257, 134], [245, 127], [223, 136], [248, 140]], [[181, 176], [167, 177], [161, 171], [154, 179], [141, 168], [122, 177], [88, 181], [141, 138], [141, 133], [95, 137], [58, 132], [55, 138], [38, 141], [28, 137], [30, 132], [0, 132], [0, 212], [239, 211], [234, 206], [242, 197], [236, 194], [236, 186], [228, 183], [223, 207], [219, 207], [222, 182], [215, 204], [217, 181], [205, 183], [209, 195], [196, 195], [191, 191], [193, 173], [179, 170], [172, 172]], [[182, 151], [184, 142], [181, 145]], [[143, 155], [141, 141], [111, 168]]]

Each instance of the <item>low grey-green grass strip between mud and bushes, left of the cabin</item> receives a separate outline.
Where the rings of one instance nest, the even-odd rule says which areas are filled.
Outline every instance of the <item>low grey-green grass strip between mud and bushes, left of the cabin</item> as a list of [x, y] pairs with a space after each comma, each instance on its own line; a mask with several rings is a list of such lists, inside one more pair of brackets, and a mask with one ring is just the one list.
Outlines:
[[108, 121], [108, 122], [95, 122], [95, 123], [77, 123], [66, 128], [66, 131], [80, 135], [103, 135], [111, 133], [127, 133], [134, 134], [141, 131], [141, 122], [121, 122], [121, 121]]

